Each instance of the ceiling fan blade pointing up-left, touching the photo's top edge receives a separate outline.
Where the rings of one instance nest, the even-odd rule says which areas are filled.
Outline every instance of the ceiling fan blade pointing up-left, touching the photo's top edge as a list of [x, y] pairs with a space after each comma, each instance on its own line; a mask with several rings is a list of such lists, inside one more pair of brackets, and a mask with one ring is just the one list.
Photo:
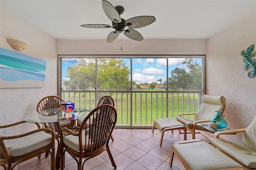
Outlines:
[[112, 6], [112, 4], [110, 4], [110, 2], [103, 0], [102, 7], [103, 7], [105, 14], [108, 16], [108, 18], [111, 21], [113, 21], [115, 23], [122, 22], [120, 14], [117, 12], [116, 8], [114, 8], [114, 6]]

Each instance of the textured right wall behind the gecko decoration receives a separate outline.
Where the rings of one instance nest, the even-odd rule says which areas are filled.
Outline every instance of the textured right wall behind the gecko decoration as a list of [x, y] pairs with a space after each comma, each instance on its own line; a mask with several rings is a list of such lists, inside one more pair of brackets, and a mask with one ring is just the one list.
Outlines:
[[[256, 12], [209, 38], [207, 44], [206, 94], [226, 97], [228, 128], [245, 128], [256, 114], [256, 76], [248, 78], [240, 52], [252, 44], [256, 51]], [[224, 138], [240, 141], [242, 134]]]

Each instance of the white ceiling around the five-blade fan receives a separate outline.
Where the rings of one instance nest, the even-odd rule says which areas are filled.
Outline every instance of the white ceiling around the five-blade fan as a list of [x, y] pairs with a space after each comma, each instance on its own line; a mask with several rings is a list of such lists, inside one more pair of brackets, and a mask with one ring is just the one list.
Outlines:
[[[256, 10], [256, 0], [108, 0], [123, 6], [121, 18], [155, 16], [136, 28], [144, 39], [207, 39]], [[56, 39], [106, 39], [113, 28], [82, 28], [111, 24], [101, 0], [0, 0], [0, 5]], [[121, 36], [118, 36], [120, 39]], [[122, 33], [122, 39], [129, 39]]]

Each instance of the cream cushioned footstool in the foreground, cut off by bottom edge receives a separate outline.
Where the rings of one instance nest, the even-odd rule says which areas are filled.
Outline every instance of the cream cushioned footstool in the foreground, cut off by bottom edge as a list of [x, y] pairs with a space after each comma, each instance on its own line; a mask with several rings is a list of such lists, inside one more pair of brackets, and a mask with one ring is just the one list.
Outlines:
[[238, 162], [200, 139], [175, 142], [172, 145], [170, 166], [174, 154], [186, 170], [244, 170]]

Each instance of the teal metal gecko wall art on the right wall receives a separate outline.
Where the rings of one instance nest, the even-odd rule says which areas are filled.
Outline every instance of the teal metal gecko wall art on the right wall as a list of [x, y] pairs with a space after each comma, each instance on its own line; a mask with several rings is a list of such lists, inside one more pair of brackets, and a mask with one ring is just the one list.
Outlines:
[[247, 48], [246, 51], [242, 50], [240, 55], [243, 57], [244, 60], [244, 71], [248, 71], [249, 68], [252, 70], [248, 72], [248, 77], [253, 78], [256, 75], [256, 60], [252, 60], [251, 58], [255, 56], [255, 51], [254, 50], [254, 44], [252, 44], [250, 47]]

